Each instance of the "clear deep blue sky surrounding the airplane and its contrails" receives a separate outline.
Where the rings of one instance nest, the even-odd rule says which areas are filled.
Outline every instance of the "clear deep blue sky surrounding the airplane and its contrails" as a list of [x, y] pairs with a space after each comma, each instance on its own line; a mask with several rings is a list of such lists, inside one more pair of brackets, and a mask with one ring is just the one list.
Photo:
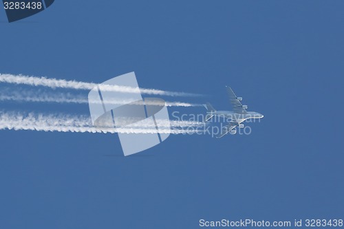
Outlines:
[[[343, 217], [343, 7], [56, 0], [17, 23], [7, 23], [1, 8], [1, 73], [101, 83], [136, 72], [140, 87], [206, 94], [182, 100], [217, 109], [230, 109], [230, 85], [264, 118], [249, 124], [251, 135], [171, 135], [131, 157], [122, 156], [116, 134], [2, 130], [0, 227], [197, 228], [200, 219]], [[89, 113], [87, 105], [0, 107]]]

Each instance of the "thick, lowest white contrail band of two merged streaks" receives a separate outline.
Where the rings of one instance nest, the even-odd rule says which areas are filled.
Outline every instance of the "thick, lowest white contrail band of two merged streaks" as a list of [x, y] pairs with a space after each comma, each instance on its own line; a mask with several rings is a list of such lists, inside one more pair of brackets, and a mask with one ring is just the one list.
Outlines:
[[[175, 121], [175, 126], [183, 123]], [[184, 124], [188, 124], [187, 122]], [[31, 131], [58, 131], [77, 133], [156, 133], [156, 129], [150, 129], [150, 125], [141, 124], [138, 128], [104, 128], [92, 127], [91, 120], [87, 116], [69, 115], [45, 115], [42, 113], [19, 113], [0, 111], [0, 129], [31, 130]], [[161, 128], [158, 133], [196, 133], [195, 129], [169, 129]]]

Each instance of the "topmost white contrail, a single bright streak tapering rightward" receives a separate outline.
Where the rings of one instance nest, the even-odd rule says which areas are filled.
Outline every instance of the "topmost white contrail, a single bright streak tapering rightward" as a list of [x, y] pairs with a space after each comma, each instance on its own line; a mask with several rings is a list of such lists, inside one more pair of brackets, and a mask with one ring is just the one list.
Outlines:
[[102, 91], [117, 91], [123, 93], [142, 93], [160, 96], [200, 96], [198, 94], [191, 94], [178, 91], [162, 91], [158, 89], [144, 89], [138, 87], [125, 87], [119, 85], [100, 85], [96, 83], [80, 82], [75, 80], [58, 80], [56, 78], [45, 78], [36, 76], [23, 76], [12, 74], [0, 74], [0, 83], [12, 83], [17, 85], [30, 85], [42, 87], [61, 87], [67, 89], [84, 89], [92, 90], [94, 87], [99, 87]]

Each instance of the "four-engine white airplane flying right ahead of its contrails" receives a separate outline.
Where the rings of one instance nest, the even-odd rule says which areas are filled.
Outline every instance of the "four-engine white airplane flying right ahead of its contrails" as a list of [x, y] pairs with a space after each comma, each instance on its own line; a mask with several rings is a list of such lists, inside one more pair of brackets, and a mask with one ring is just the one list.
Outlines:
[[206, 104], [204, 105], [204, 107], [206, 107], [207, 109], [206, 119], [204, 120], [204, 122], [211, 120], [211, 118], [213, 118], [214, 116], [230, 119], [230, 122], [228, 122], [226, 127], [222, 128], [221, 133], [219, 133], [216, 138], [222, 138], [227, 133], [237, 133], [235, 127], [244, 128], [244, 124], [241, 124], [241, 122], [244, 122], [245, 120], [264, 117], [261, 113], [246, 111], [246, 109], [248, 108], [247, 105], [242, 105], [240, 102], [242, 100], [242, 97], [235, 96], [234, 91], [230, 87], [226, 86], [226, 89], [230, 103], [233, 105], [233, 111], [217, 111], [209, 102], [206, 102]]

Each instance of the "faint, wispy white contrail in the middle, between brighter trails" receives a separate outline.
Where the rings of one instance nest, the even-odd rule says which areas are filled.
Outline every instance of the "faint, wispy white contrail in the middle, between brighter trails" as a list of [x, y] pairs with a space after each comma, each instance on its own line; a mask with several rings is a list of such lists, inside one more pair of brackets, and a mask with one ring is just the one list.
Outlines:
[[[73, 95], [70, 93], [46, 93], [46, 92], [33, 92], [33, 91], [15, 91], [4, 90], [0, 91], [0, 101], [19, 101], [19, 102], [56, 102], [56, 103], [76, 103], [88, 104], [101, 103], [101, 101], [92, 101], [82, 95]], [[114, 105], [127, 105], [131, 100], [107, 100], [107, 104]], [[150, 105], [146, 103], [146, 105]], [[153, 104], [152, 104], [153, 105]], [[189, 103], [189, 102], [169, 102], [166, 101], [167, 107], [200, 107], [202, 105]]]

